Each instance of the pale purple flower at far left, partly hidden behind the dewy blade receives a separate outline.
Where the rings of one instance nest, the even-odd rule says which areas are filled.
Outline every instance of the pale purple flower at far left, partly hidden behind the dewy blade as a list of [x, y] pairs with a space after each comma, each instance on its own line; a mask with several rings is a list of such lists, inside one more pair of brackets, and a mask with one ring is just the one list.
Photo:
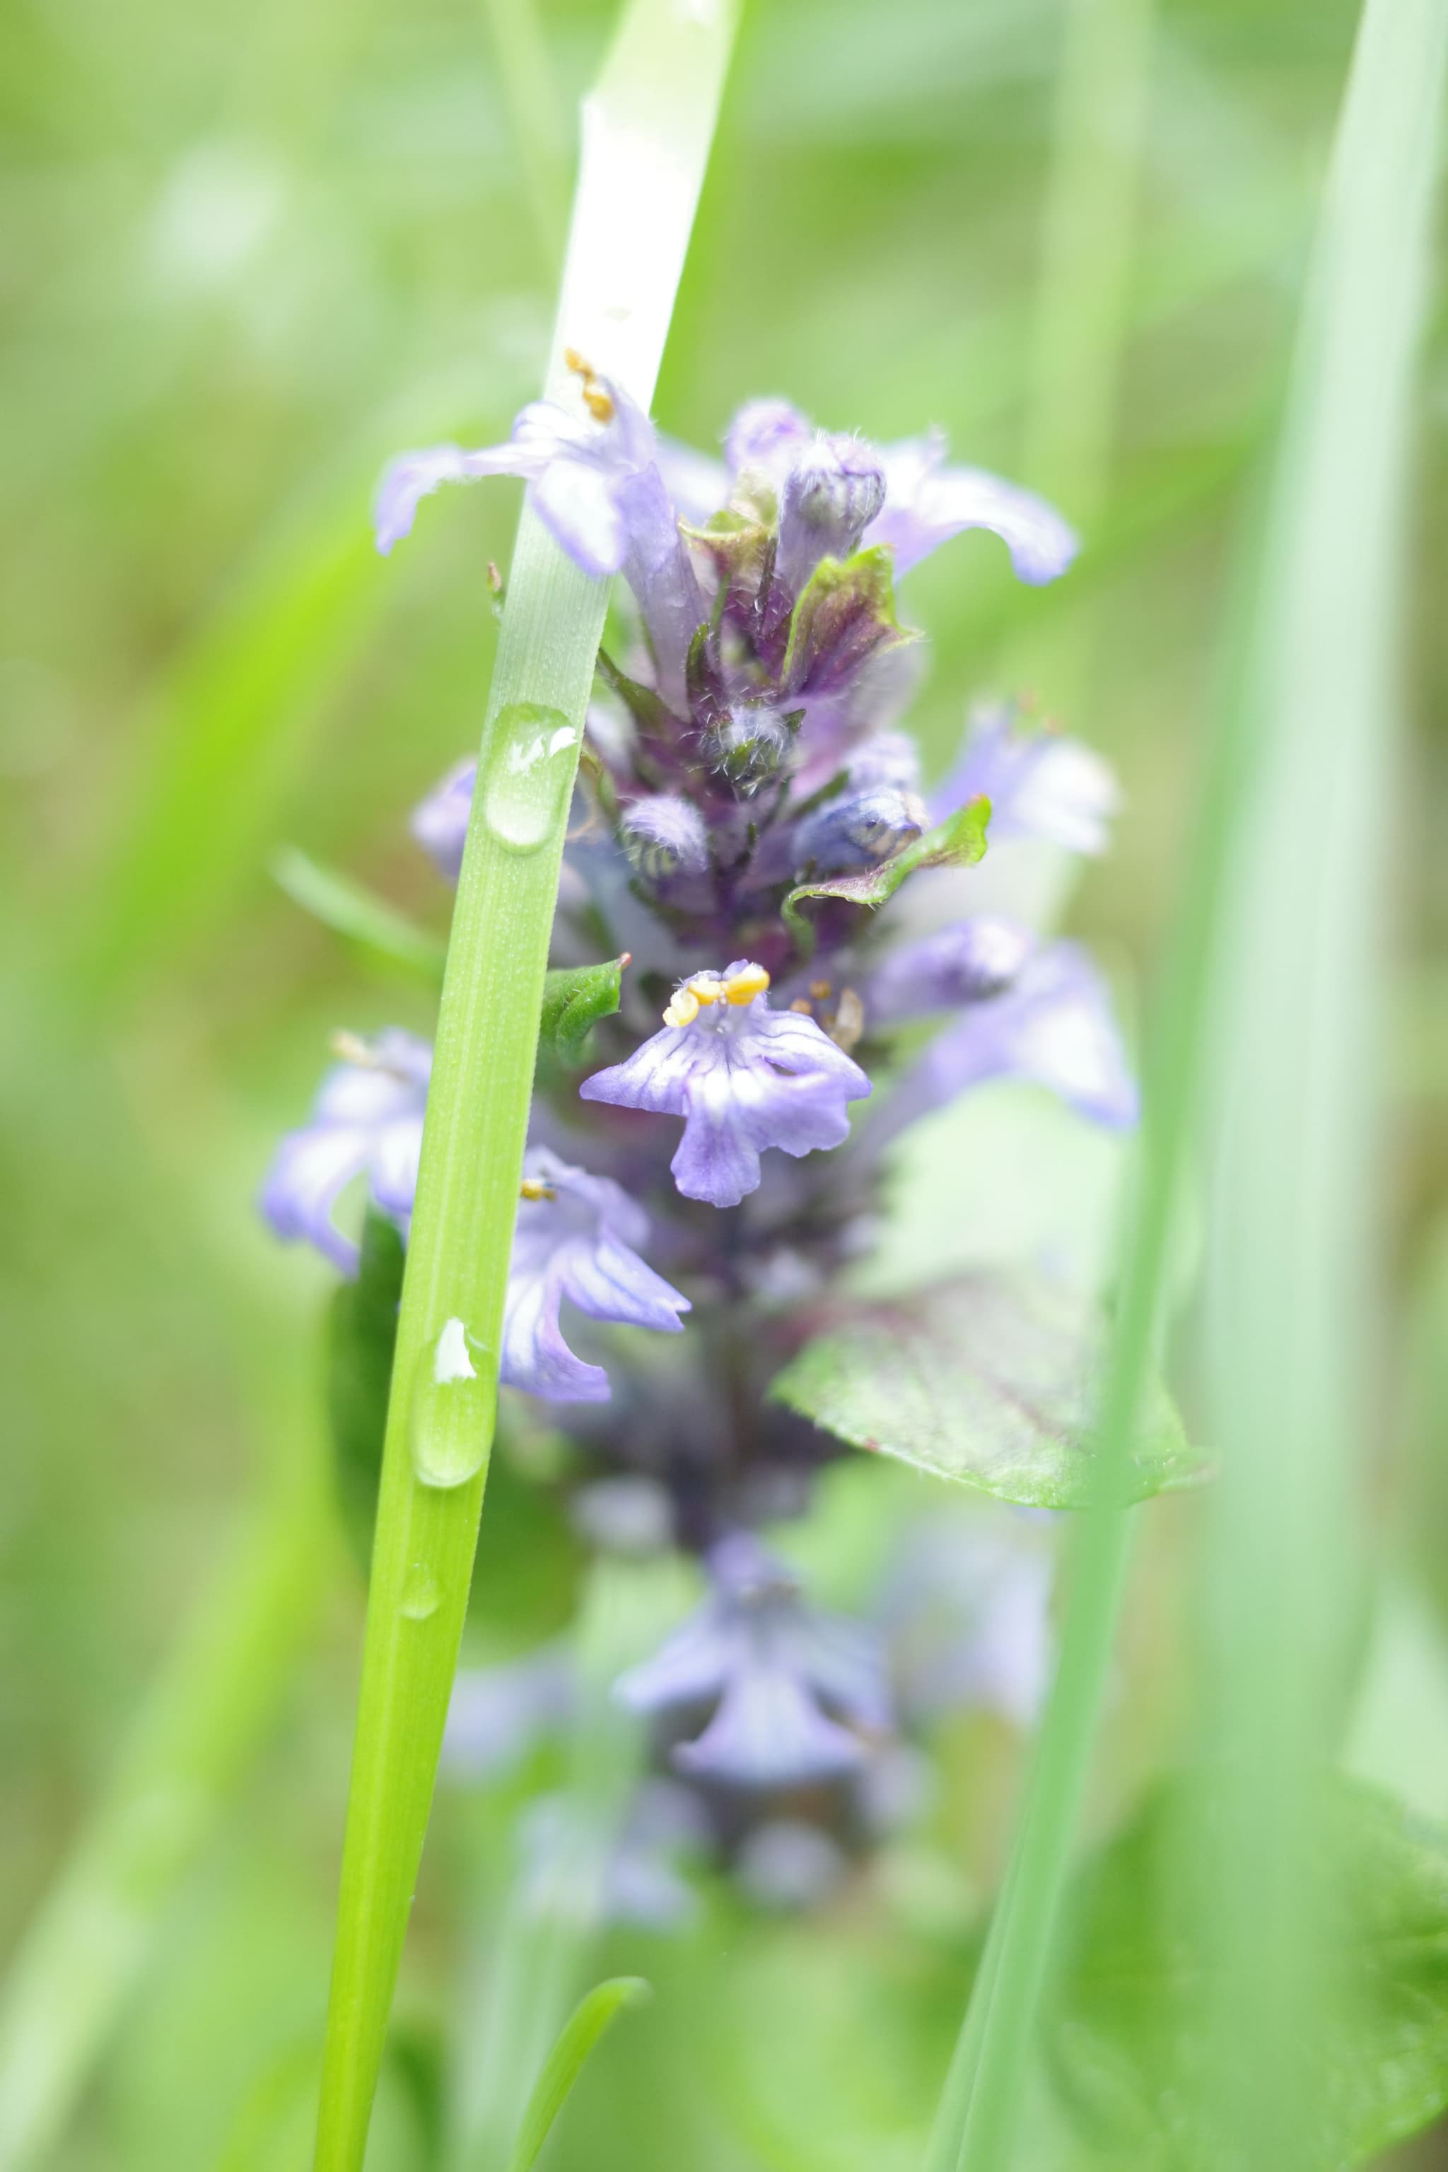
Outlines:
[[282, 1238], [306, 1238], [343, 1275], [356, 1275], [358, 1249], [332, 1221], [354, 1177], [406, 1234], [417, 1190], [423, 1108], [432, 1049], [399, 1025], [376, 1040], [339, 1036], [336, 1064], [321, 1082], [310, 1123], [289, 1132], [267, 1175], [261, 1210]]

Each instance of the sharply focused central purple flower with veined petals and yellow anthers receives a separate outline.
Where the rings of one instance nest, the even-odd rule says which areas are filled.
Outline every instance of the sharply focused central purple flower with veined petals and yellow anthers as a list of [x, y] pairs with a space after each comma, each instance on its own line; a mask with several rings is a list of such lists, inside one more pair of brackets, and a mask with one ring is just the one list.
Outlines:
[[684, 1119], [673, 1179], [686, 1199], [732, 1208], [760, 1184], [760, 1153], [812, 1153], [849, 1136], [847, 1103], [871, 1082], [795, 1010], [771, 1010], [769, 973], [738, 958], [677, 988], [662, 1032], [584, 1079], [584, 1101]]

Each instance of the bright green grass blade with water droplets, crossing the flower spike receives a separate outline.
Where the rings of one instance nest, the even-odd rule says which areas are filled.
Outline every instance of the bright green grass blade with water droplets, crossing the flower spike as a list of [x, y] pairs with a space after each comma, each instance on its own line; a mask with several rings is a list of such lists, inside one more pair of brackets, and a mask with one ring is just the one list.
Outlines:
[[[547, 374], [575, 348], [653, 395], [734, 35], [632, 0], [584, 152]], [[608, 586], [523, 510], [454, 910], [397, 1323], [367, 1605], [319, 2172], [356, 2172], [421, 1857], [493, 1434], [558, 862]]]

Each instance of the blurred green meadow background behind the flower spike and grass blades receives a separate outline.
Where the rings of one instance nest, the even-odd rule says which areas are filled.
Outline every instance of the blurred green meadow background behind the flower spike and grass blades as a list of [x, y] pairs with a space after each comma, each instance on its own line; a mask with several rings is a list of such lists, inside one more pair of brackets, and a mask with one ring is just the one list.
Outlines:
[[[508, 46], [510, 0], [493, 15], [480, 0], [17, 0], [0, 26], [4, 1942], [256, 1501], [306, 1492], [321, 1468], [328, 1275], [271, 1242], [254, 1192], [328, 1032], [425, 1032], [428, 1016], [308, 923], [269, 860], [300, 843], [441, 925], [406, 810], [475, 743], [495, 641], [482, 567], [506, 563], [517, 500], [501, 487], [439, 504], [382, 567], [367, 497], [389, 450], [491, 443], [536, 391], [573, 102], [608, 22], [604, 4], [545, 0], [547, 72]], [[1057, 591], [1012, 589], [999, 545], [968, 536], [914, 578], [905, 615], [931, 641], [914, 708], [931, 760], [970, 693], [1009, 684], [1116, 765], [1116, 847], [1068, 925], [1131, 1016], [1198, 786], [1224, 558], [1283, 382], [1352, 9], [1157, 11], [1094, 510], [1053, 473], [1070, 447], [1040, 426], [1059, 30], [1055, 0], [758, 4], [656, 413], [701, 445], [749, 393], [877, 439], [940, 421], [957, 456], [1092, 515]], [[1070, 319], [1070, 300], [1055, 306]], [[1389, 1566], [1363, 1625], [1350, 1761], [1444, 1818], [1441, 306], [1431, 326], [1392, 1049], [1402, 1331], [1376, 1436]], [[975, 1153], [940, 1142], [905, 1173], [890, 1271], [968, 1258], [981, 1227], [1005, 1249], [1101, 1249], [1116, 1149], [1036, 1103], [1001, 1099], [979, 1123]], [[988, 1182], [1001, 1156], [1009, 1190]], [[823, 1596], [858, 1592], [875, 1525], [901, 1499], [918, 1510], [920, 1483], [838, 1470], [808, 1533]], [[569, 1607], [558, 1533], [530, 1553], [528, 1514], [508, 1520], [504, 1497], [493, 1525], [493, 1505], [480, 1655], [528, 1649]], [[1146, 1514], [1096, 1829], [1170, 1761], [1192, 1512], [1168, 1499]], [[67, 2172], [304, 2161], [304, 2107], [287, 2107], [326, 1998], [363, 1599], [326, 1520], [315, 1536], [287, 1690], [163, 1914], [54, 2155]], [[660, 1996], [586, 2074], [558, 2165], [918, 2161], [1014, 1759], [994, 1718], [947, 1722], [936, 1746], [927, 1816], [821, 1916], [749, 1911], [706, 1879], [693, 1929], [610, 1937], [610, 1968]], [[543, 1764], [439, 1798], [378, 2172], [436, 2161], [439, 2074], [478, 2024], [478, 1866], [545, 1781]], [[1439, 2161], [1433, 2148], [1415, 2161]]]

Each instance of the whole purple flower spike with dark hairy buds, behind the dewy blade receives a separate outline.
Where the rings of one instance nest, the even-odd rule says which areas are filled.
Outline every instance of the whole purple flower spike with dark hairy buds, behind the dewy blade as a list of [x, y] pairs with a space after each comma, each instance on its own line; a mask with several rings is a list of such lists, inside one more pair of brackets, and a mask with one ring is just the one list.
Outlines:
[[[764, 1390], [873, 1225], [905, 1125], [1001, 1077], [1135, 1119], [1085, 956], [970, 910], [986, 825], [992, 847], [1096, 854], [1116, 788], [1085, 747], [999, 708], [927, 793], [899, 728], [916, 636], [894, 578], [988, 528], [1020, 580], [1055, 580], [1077, 545], [1051, 506], [951, 465], [933, 432], [875, 447], [782, 400], [745, 406], [716, 463], [575, 367], [577, 406], [528, 406], [508, 443], [395, 460], [378, 547], [439, 484], [521, 476], [562, 550], [630, 591], [625, 641], [599, 656], [554, 964], [608, 945], [632, 967], [595, 1069], [538, 1077], [501, 1377], [547, 1401], [595, 1475], [669, 1501], [714, 1599], [621, 1694], [706, 1714], [677, 1772], [769, 1792], [855, 1770], [890, 1699], [851, 1625], [810, 1614], [753, 1538], [838, 1453]], [[471, 791], [462, 762], [412, 817], [449, 880]], [[406, 1236], [428, 1049], [389, 1032], [341, 1053], [263, 1205], [350, 1271], [332, 1218], [350, 1179]]]

